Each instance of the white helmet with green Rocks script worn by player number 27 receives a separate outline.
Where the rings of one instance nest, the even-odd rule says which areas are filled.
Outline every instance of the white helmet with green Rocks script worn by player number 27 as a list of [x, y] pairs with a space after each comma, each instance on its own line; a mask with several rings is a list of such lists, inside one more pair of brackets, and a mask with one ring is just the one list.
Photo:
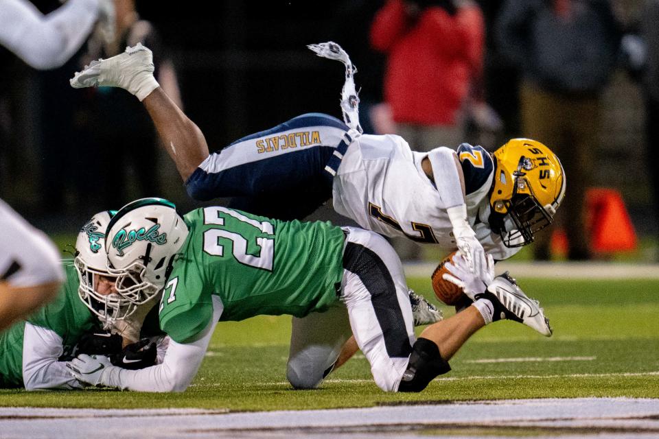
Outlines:
[[135, 306], [156, 296], [187, 234], [176, 206], [162, 198], [142, 198], [119, 209], [106, 238], [108, 272], [117, 276], [117, 292]]

